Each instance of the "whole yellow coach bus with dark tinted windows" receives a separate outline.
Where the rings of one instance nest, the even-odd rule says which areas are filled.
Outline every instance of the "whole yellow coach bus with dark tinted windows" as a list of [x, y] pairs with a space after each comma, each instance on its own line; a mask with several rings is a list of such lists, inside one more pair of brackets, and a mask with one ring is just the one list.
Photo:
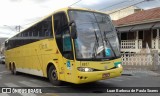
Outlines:
[[63, 8], [5, 41], [7, 68], [75, 84], [120, 76], [120, 47], [109, 15]]

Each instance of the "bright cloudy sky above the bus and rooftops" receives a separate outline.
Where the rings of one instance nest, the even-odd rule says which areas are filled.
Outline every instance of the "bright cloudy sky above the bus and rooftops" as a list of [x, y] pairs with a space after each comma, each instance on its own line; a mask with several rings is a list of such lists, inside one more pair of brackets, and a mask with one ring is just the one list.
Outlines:
[[[141, 1], [144, 0], [1, 0], [0, 37], [11, 37], [17, 33], [16, 26], [24, 29], [55, 10], [71, 5], [105, 12]], [[160, 7], [160, 0], [145, 1], [136, 6], [143, 9]]]

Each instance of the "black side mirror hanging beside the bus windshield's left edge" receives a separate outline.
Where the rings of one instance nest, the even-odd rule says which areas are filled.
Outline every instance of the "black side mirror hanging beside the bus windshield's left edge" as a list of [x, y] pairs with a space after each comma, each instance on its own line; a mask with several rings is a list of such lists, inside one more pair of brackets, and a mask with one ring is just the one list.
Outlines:
[[71, 26], [71, 37], [72, 37], [72, 39], [77, 39], [77, 29], [76, 29], [75, 21], [72, 20], [69, 23], [69, 26]]

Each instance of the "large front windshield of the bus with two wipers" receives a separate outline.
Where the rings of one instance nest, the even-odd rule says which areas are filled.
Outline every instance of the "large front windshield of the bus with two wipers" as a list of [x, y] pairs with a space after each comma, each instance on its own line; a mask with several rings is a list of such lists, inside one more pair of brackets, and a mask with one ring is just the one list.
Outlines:
[[117, 33], [108, 15], [70, 10], [69, 17], [76, 23], [74, 45], [77, 59], [111, 60], [120, 57]]

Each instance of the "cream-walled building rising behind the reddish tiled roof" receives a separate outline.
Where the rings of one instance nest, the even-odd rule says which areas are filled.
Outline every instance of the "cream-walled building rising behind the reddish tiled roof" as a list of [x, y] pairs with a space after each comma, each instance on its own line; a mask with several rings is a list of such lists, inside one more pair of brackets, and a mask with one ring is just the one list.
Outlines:
[[142, 11], [142, 10], [143, 9], [140, 9], [136, 6], [130, 6], [130, 7], [127, 7], [127, 8], [107, 11], [106, 13], [110, 15], [112, 20], [118, 20], [118, 19], [126, 17], [130, 14], [136, 13], [138, 11]]

